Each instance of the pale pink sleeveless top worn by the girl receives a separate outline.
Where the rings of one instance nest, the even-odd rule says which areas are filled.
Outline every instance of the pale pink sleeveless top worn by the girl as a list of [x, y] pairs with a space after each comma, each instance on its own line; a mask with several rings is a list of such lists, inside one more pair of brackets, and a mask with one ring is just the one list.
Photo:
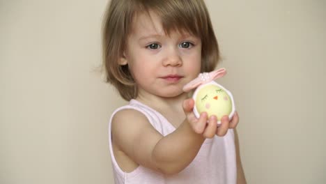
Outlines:
[[129, 105], [116, 109], [109, 121], [109, 150], [111, 153], [114, 181], [116, 184], [236, 183], [237, 167], [235, 160], [234, 132], [232, 129], [229, 129], [224, 137], [215, 136], [212, 139], [206, 139], [192, 163], [176, 175], [165, 176], [164, 174], [141, 165], [130, 173], [124, 172], [118, 166], [118, 163], [114, 158], [111, 139], [112, 117], [121, 109], [135, 109], [143, 113], [153, 127], [163, 136], [169, 135], [171, 132], [176, 130], [176, 128], [174, 128], [173, 125], [162, 116], [162, 114], [146, 105], [143, 105], [137, 100], [130, 100]]

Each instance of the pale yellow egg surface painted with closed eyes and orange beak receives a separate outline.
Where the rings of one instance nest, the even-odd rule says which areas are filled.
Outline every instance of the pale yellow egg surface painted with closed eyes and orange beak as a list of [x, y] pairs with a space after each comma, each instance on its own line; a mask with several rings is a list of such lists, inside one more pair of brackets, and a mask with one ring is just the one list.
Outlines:
[[197, 92], [196, 109], [201, 112], [207, 112], [208, 117], [211, 115], [217, 116], [217, 120], [220, 121], [225, 115], [229, 115], [232, 112], [232, 100], [230, 95], [216, 85], [203, 86]]

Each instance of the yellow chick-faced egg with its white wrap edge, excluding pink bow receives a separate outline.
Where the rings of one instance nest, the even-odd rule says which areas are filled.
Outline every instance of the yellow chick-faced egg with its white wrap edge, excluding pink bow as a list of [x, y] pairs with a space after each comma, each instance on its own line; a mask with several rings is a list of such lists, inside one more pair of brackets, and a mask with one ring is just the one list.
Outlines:
[[201, 112], [207, 112], [208, 117], [217, 116], [217, 123], [220, 123], [223, 116], [228, 116], [231, 119], [235, 112], [231, 92], [214, 81], [199, 86], [194, 91], [192, 98], [195, 102], [194, 114], [197, 118]]

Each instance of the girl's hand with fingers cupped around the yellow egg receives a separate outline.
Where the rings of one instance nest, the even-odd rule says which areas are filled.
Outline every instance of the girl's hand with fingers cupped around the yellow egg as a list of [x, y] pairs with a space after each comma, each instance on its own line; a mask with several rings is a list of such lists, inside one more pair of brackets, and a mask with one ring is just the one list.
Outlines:
[[183, 110], [186, 118], [192, 127], [192, 130], [197, 134], [203, 135], [205, 138], [212, 138], [214, 135], [224, 136], [228, 132], [228, 128], [235, 128], [238, 125], [239, 117], [235, 112], [233, 118], [229, 121], [228, 116], [223, 116], [221, 125], [217, 126], [217, 117], [210, 116], [202, 112], [199, 118], [196, 118], [192, 109], [194, 108], [194, 100], [189, 98], [183, 102]]

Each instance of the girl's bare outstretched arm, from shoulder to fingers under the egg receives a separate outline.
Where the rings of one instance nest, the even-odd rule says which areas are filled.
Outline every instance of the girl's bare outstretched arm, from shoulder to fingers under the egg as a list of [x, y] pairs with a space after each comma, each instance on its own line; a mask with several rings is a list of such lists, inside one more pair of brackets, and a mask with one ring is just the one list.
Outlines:
[[[193, 105], [193, 100], [186, 100], [186, 114], [192, 112]], [[124, 109], [112, 119], [113, 144], [136, 164], [163, 174], [177, 174], [194, 160], [205, 138], [215, 136], [217, 130], [217, 118], [210, 118], [207, 124], [206, 113], [191, 122], [188, 119], [163, 137], [141, 112]]]

